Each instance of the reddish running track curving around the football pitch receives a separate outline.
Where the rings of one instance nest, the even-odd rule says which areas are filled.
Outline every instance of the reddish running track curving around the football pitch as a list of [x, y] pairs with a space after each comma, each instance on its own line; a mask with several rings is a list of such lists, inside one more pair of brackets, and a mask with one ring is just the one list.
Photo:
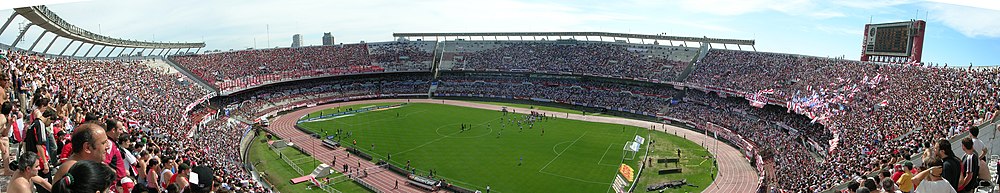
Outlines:
[[[454, 101], [454, 100], [431, 100], [431, 99], [379, 99], [379, 100], [365, 100], [365, 101], [351, 101], [335, 104], [326, 104], [315, 106], [303, 110], [298, 110], [278, 117], [276, 120], [271, 121], [271, 126], [268, 130], [274, 132], [278, 137], [282, 139], [290, 139], [291, 142], [298, 144], [298, 146], [305, 151], [305, 153], [312, 155], [316, 159], [322, 161], [323, 163], [330, 163], [333, 161], [333, 157], [337, 156], [337, 164], [348, 163], [351, 166], [352, 171], [356, 171], [357, 163], [360, 162], [363, 168], [376, 168], [374, 163], [368, 162], [366, 160], [360, 159], [357, 156], [348, 157], [347, 151], [343, 148], [338, 148], [336, 150], [330, 150], [329, 148], [323, 146], [322, 141], [306, 135], [304, 132], [299, 131], [295, 128], [295, 122], [298, 121], [302, 116], [316, 112], [319, 110], [329, 109], [336, 106], [342, 105], [354, 105], [354, 104], [365, 104], [365, 103], [379, 103], [379, 102], [423, 102], [423, 103], [438, 103], [438, 104], [449, 104], [456, 106], [480, 108], [480, 109], [500, 109], [501, 106], [472, 103], [465, 101]], [[591, 122], [603, 122], [603, 123], [615, 123], [632, 125], [637, 127], [649, 128], [654, 126], [657, 131], [663, 131], [667, 133], [676, 133], [678, 136], [684, 136], [688, 140], [694, 142], [704, 141], [707, 144], [721, 143], [709, 136], [705, 136], [701, 133], [694, 132], [691, 130], [674, 127], [670, 125], [663, 125], [660, 123], [639, 121], [625, 118], [613, 118], [613, 117], [598, 117], [598, 116], [583, 116], [578, 114], [567, 114], [561, 112], [551, 112], [537, 109], [524, 109], [524, 108], [511, 108], [509, 109], [520, 110], [522, 113], [527, 113], [530, 111], [545, 112], [547, 114], [562, 115], [562, 118], [591, 121]], [[728, 146], [728, 145], [718, 145], [717, 148], [714, 145], [709, 145], [712, 148], [706, 147], [709, 152], [714, 155], [719, 163], [719, 174], [716, 176], [715, 181], [705, 189], [704, 192], [754, 192], [758, 187], [757, 172], [750, 166], [750, 162], [743, 158], [743, 154], [739, 150]], [[351, 164], [353, 163], [353, 164]], [[333, 169], [342, 171], [341, 166], [331, 166]], [[308, 169], [308, 168], [307, 168]], [[417, 189], [412, 186], [405, 185], [406, 177], [398, 175], [392, 171], [377, 168], [369, 170], [368, 177], [360, 178], [359, 180], [364, 181], [378, 189], [381, 192], [427, 192], [422, 189]], [[401, 185], [399, 189], [394, 189], [396, 181], [399, 181]], [[637, 187], [638, 191], [645, 187]]]

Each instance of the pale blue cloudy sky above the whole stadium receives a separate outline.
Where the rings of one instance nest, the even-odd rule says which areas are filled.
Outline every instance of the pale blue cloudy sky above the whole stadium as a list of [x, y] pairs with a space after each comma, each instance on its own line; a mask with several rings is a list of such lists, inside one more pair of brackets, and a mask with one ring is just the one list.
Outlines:
[[[324, 32], [357, 43], [391, 41], [394, 32], [596, 31], [752, 39], [758, 51], [857, 60], [865, 24], [923, 19], [923, 61], [1000, 65], [1000, 4], [985, 0], [5, 0], [0, 22], [11, 7], [39, 2], [99, 34], [224, 51], [288, 47], [293, 34], [319, 45]], [[0, 43], [13, 42], [24, 21], [16, 17]], [[18, 47], [41, 31], [29, 30]], [[68, 42], [57, 39], [49, 53]]]

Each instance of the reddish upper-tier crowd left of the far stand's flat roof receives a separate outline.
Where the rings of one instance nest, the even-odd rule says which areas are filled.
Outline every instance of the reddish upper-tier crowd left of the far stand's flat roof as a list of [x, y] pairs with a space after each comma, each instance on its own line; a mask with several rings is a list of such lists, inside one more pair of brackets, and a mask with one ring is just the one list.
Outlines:
[[[375, 72], [429, 71], [427, 42], [385, 42], [239, 50], [171, 60], [223, 91], [299, 78]], [[433, 46], [433, 44], [431, 44]], [[431, 48], [433, 49], [433, 48]]]

